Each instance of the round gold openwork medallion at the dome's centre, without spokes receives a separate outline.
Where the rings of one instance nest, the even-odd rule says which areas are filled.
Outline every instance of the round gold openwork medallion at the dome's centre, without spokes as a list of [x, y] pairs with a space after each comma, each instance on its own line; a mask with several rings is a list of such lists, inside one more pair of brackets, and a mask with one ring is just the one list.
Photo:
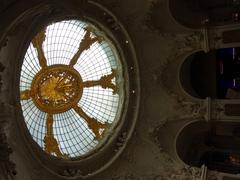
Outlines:
[[80, 74], [67, 65], [53, 65], [42, 69], [32, 81], [32, 99], [46, 113], [62, 113], [73, 108], [83, 93]]

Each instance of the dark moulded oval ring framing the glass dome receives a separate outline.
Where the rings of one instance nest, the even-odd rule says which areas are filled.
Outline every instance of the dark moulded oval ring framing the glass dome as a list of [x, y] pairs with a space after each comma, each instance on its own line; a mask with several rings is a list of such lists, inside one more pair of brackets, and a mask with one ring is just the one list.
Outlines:
[[[123, 65], [123, 76], [125, 79], [125, 99], [121, 120], [115, 129], [115, 133], [98, 151], [84, 157], [72, 159], [59, 159], [49, 156], [33, 141], [27, 130], [21, 105], [20, 94], [14, 93], [16, 104], [16, 123], [19, 131], [24, 134], [23, 143], [28, 146], [33, 158], [38, 160], [42, 167], [57, 176], [65, 177], [89, 177], [107, 168], [125, 148], [130, 139], [138, 116], [140, 103], [140, 82], [138, 62], [131, 39], [118, 19], [104, 6], [94, 1], [71, 1], [63, 0], [60, 3], [53, 1], [32, 2], [28, 7], [22, 7], [19, 16], [9, 25], [10, 31], [25, 32], [18, 44], [18, 52], [9, 59], [13, 67], [12, 87], [19, 88], [21, 64], [28, 44], [34, 35], [49, 22], [67, 18], [79, 18], [104, 29], [108, 38], [115, 44], [120, 54]], [[24, 28], [22, 28], [24, 26]], [[71, 173], [68, 173], [71, 172]]]

